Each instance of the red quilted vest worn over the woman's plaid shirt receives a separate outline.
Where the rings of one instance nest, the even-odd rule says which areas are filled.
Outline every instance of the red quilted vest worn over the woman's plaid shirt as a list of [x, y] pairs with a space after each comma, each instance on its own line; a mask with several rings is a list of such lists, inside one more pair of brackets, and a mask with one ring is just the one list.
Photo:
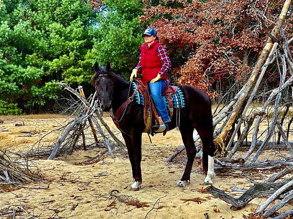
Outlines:
[[[149, 48], [147, 48], [147, 43], [140, 47], [142, 75], [146, 82], [155, 78], [162, 68], [162, 62], [157, 54], [157, 49], [161, 45], [161, 43], [155, 40]], [[163, 74], [161, 79], [167, 79], [167, 74]]]

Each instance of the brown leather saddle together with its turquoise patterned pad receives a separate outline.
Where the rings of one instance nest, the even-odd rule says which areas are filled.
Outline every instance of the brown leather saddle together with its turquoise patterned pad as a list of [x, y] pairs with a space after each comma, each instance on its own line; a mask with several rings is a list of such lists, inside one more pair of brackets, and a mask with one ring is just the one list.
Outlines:
[[[173, 109], [185, 107], [185, 97], [181, 87], [169, 86], [169, 84], [170, 82], [167, 80], [163, 99], [171, 119], [173, 116]], [[156, 111], [146, 82], [140, 78], [136, 78], [135, 81], [131, 82], [131, 88], [133, 91], [136, 91], [135, 95], [133, 96], [133, 101], [144, 106], [144, 121], [146, 125], [144, 132], [150, 132], [152, 117], [155, 117], [156, 123], [162, 125], [163, 121]]]

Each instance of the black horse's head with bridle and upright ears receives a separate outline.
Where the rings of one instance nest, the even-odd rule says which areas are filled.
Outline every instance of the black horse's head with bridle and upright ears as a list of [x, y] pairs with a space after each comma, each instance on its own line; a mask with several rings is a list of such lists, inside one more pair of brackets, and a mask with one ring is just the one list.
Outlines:
[[106, 67], [99, 68], [97, 62], [94, 64], [95, 74], [92, 79], [92, 84], [98, 93], [101, 101], [101, 107], [103, 111], [109, 111], [111, 109], [111, 101], [113, 95], [113, 74], [110, 72], [111, 65], [107, 62]]

